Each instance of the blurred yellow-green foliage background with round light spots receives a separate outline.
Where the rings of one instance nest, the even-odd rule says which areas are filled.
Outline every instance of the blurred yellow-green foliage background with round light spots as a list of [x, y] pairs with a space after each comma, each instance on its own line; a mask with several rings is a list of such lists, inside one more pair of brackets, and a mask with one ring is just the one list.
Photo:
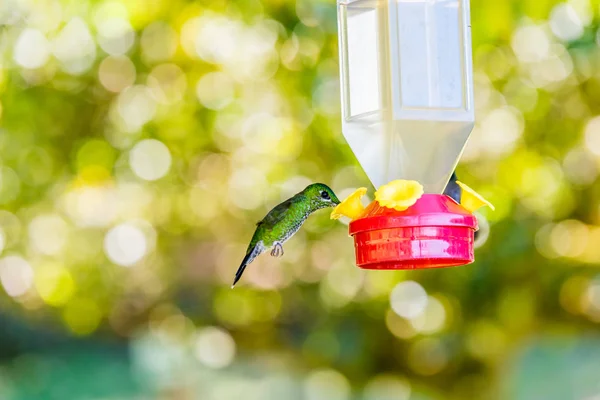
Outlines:
[[273, 205], [370, 187], [335, 2], [2, 0], [0, 398], [600, 399], [600, 4], [471, 14], [476, 262], [359, 270], [324, 211], [231, 290]]

